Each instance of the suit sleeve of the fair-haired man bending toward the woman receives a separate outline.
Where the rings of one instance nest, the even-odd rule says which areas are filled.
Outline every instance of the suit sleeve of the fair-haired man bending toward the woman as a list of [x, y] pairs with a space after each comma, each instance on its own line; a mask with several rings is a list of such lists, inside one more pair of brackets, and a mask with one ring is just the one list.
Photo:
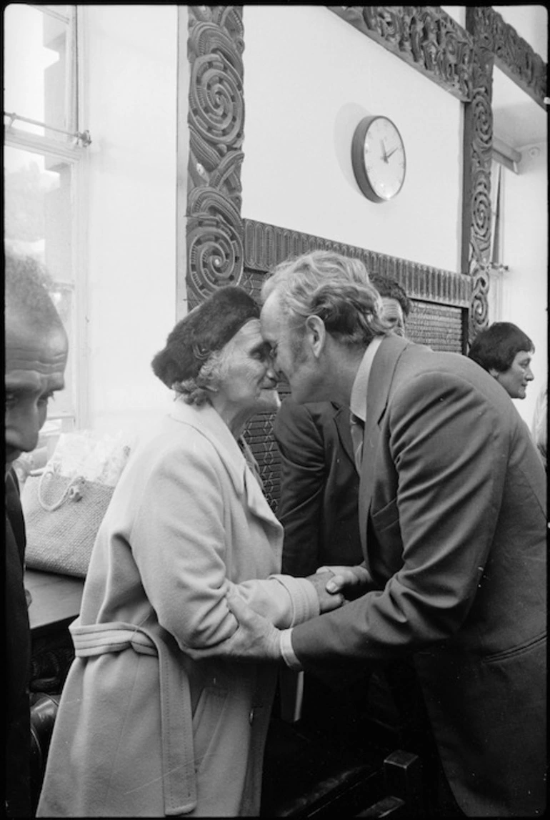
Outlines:
[[293, 630], [304, 667], [398, 658], [457, 632], [502, 503], [511, 426], [501, 410], [449, 373], [422, 374], [395, 394], [374, 481], [392, 481], [397, 493], [370, 526], [400, 533], [402, 566], [384, 589]]

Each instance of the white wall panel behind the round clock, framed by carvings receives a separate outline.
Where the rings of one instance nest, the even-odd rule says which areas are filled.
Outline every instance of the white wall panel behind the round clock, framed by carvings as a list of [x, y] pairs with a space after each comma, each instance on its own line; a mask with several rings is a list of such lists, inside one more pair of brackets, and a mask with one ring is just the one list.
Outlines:
[[[243, 216], [459, 270], [461, 103], [320, 6], [244, 6]], [[367, 114], [405, 142], [398, 197], [352, 175]]]

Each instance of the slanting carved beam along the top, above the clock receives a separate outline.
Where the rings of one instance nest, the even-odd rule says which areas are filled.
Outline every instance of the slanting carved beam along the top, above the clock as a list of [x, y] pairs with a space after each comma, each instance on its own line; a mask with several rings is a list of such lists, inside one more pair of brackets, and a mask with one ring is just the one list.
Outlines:
[[329, 6], [455, 97], [471, 99], [470, 35], [438, 6]]

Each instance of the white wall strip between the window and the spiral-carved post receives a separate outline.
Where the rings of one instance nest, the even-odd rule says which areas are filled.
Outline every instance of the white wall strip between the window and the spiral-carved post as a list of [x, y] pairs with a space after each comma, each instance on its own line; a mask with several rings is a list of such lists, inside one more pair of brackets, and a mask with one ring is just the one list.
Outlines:
[[152, 356], [175, 322], [177, 7], [86, 6], [89, 417], [139, 429], [166, 403]]

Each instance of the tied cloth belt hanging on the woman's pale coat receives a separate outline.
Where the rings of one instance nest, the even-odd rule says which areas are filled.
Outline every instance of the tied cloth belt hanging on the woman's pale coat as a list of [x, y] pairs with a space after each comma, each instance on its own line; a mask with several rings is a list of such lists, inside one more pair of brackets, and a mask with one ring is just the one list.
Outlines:
[[161, 754], [164, 811], [167, 816], [187, 814], [197, 805], [197, 783], [193, 749], [193, 714], [189, 681], [184, 669], [157, 635], [130, 623], [109, 622], [70, 625], [78, 658], [107, 652], [157, 655], [161, 690]]

